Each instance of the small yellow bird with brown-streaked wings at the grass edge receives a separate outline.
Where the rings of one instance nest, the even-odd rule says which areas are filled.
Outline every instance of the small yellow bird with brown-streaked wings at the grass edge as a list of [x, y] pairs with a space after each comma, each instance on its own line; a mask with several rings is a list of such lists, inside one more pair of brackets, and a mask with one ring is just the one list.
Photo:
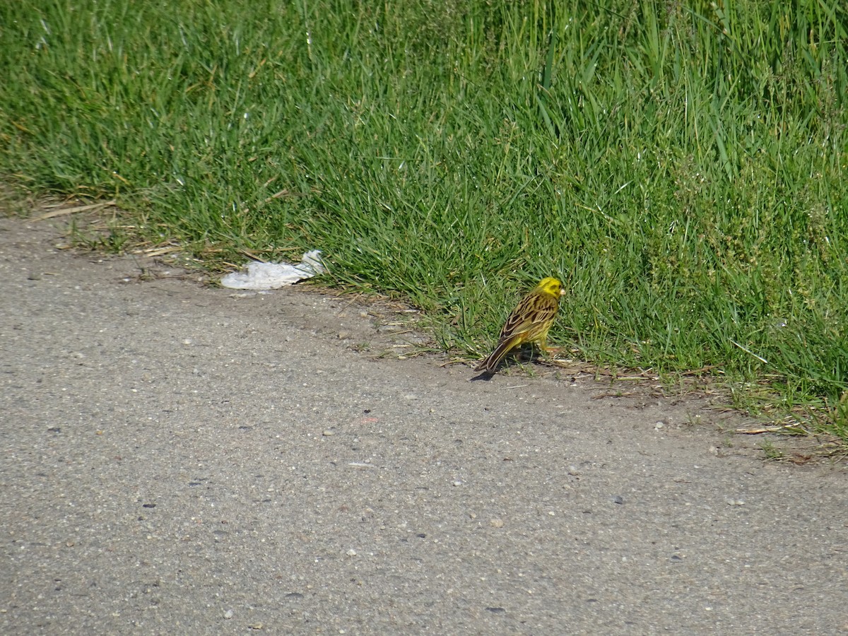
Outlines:
[[548, 330], [554, 324], [556, 311], [560, 308], [560, 297], [564, 293], [566, 290], [562, 288], [562, 283], [555, 278], [549, 276], [539, 281], [512, 310], [504, 328], [500, 330], [498, 346], [474, 371], [494, 373], [504, 356], [522, 344], [535, 343], [539, 349], [547, 352], [545, 344]]

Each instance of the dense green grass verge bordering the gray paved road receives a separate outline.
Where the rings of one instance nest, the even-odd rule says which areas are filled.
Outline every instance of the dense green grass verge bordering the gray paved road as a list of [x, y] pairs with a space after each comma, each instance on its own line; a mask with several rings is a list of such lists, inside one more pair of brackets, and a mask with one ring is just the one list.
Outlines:
[[848, 439], [846, 42], [837, 0], [20, 0], [0, 174], [200, 256], [321, 248], [470, 355], [559, 275], [584, 360]]

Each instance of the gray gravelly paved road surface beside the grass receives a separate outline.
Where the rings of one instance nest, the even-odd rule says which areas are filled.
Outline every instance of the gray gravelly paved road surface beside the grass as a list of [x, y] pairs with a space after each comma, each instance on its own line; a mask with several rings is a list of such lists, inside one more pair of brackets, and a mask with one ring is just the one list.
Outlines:
[[844, 469], [52, 223], [0, 220], [0, 632], [848, 632]]

